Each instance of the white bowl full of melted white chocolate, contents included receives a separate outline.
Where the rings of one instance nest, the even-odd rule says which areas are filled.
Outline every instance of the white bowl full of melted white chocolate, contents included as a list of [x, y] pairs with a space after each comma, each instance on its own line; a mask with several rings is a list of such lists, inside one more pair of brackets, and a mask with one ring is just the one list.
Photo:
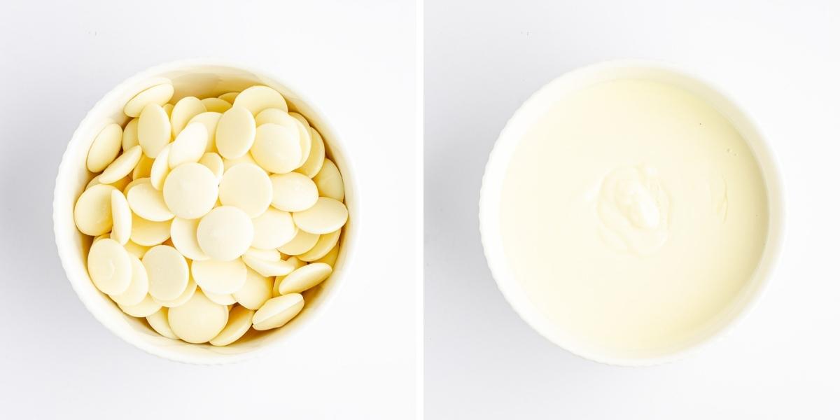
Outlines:
[[727, 331], [764, 289], [783, 219], [753, 120], [706, 81], [647, 61], [536, 92], [497, 140], [480, 199], [512, 307], [614, 365], [673, 360]]

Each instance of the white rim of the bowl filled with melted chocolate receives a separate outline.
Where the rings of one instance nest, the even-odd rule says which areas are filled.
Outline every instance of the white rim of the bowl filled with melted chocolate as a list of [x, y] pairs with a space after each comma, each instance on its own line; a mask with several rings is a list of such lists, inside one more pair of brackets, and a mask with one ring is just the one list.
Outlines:
[[[727, 318], [725, 324], [713, 330], [713, 332], [707, 334], [702, 339], [672, 353], [653, 357], [617, 357], [596, 354], [596, 352], [587, 351], [583, 346], [572, 343], [569, 339], [560, 339], [558, 334], [549, 331], [545, 327], [546, 322], [542, 320], [542, 315], [539, 314], [533, 303], [527, 297], [522, 298], [524, 295], [521, 286], [519, 286], [516, 278], [512, 276], [512, 273], [507, 268], [507, 261], [501, 244], [501, 235], [498, 234], [498, 226], [496, 224], [498, 222], [497, 213], [499, 207], [497, 198], [501, 196], [501, 181], [504, 180], [503, 174], [507, 170], [507, 162], [510, 160], [512, 150], [519, 139], [517, 134], [512, 134], [514, 130], [512, 127], [516, 126], [517, 123], [522, 123], [523, 115], [528, 113], [528, 108], [536, 107], [537, 105], [535, 104], [542, 100], [543, 97], [551, 95], [551, 91], [558, 88], [560, 84], [570, 81], [570, 79], [575, 77], [596, 75], [604, 71], [633, 68], [664, 71], [697, 83], [706, 91], [717, 95], [721, 101], [725, 102], [738, 113], [738, 117], [743, 120], [742, 125], [754, 134], [752, 139], [744, 139], [744, 141], [748, 143], [748, 146], [753, 150], [753, 156], [759, 162], [759, 169], [762, 173], [764, 186], [768, 195], [768, 208], [772, 211], [771, 218], [768, 220], [768, 236], [764, 244], [764, 251], [759, 263], [756, 265], [755, 271], [753, 271], [752, 282], [754, 285], [748, 292], [748, 295], [743, 297], [744, 302], [741, 303], [740, 307], [737, 307], [735, 312]], [[585, 86], [589, 85], [579, 81], [573, 90]], [[729, 119], [729, 115], [722, 114], [725, 118]], [[744, 130], [739, 129], [738, 131], [743, 132]], [[756, 156], [756, 148], [759, 148], [761, 157]], [[750, 312], [753, 312], [753, 309], [758, 305], [761, 298], [764, 297], [769, 281], [774, 275], [779, 263], [786, 235], [785, 186], [779, 167], [779, 160], [774, 150], [770, 147], [769, 137], [761, 129], [759, 123], [753, 118], [753, 115], [748, 113], [739, 102], [733, 100], [732, 96], [727, 94], [717, 84], [706, 80], [704, 77], [697, 76], [692, 71], [686, 71], [679, 66], [664, 61], [638, 59], [605, 60], [578, 67], [574, 70], [564, 72], [553, 81], [549, 81], [543, 87], [540, 87], [536, 92], [533, 92], [527, 100], [522, 102], [522, 105], [517, 108], [512, 114], [512, 117], [508, 119], [505, 127], [501, 129], [499, 137], [493, 144], [485, 166], [484, 175], [482, 176], [479, 197], [479, 230], [487, 265], [491, 270], [491, 276], [496, 282], [496, 286], [508, 304], [511, 305], [513, 311], [529, 327], [543, 336], [544, 339], [548, 339], [553, 344], [565, 349], [571, 354], [575, 354], [585, 360], [616, 366], [661, 365], [684, 359], [685, 357], [696, 354], [701, 349], [706, 349], [711, 344], [719, 342], [723, 337], [731, 333], [738, 324], [743, 322], [743, 319]]]

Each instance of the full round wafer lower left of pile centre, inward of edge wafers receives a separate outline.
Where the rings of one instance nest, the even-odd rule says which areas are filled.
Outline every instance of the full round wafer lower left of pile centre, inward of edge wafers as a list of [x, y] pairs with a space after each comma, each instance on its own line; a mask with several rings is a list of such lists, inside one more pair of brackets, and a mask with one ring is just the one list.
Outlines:
[[149, 294], [161, 301], [181, 296], [190, 281], [190, 269], [184, 256], [168, 245], [157, 245], [143, 255], [149, 276]]

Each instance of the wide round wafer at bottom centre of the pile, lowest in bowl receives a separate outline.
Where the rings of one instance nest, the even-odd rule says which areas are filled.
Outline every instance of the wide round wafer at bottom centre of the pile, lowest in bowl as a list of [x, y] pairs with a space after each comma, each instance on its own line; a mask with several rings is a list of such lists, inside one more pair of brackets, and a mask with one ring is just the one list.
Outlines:
[[202, 291], [180, 307], [171, 307], [167, 316], [172, 333], [187, 343], [207, 343], [228, 323], [228, 308], [207, 299]]

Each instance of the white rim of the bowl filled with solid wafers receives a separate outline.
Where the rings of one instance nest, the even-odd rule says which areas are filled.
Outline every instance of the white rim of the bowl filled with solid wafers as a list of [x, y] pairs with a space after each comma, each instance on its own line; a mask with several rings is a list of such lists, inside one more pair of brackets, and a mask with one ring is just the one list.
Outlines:
[[[61, 223], [64, 223], [62, 220], [60, 220], [60, 218], [62, 218], [61, 212], [66, 211], [66, 208], [64, 208], [65, 204], [60, 202], [59, 192], [62, 186], [65, 185], [65, 182], [62, 182], [62, 176], [65, 175], [65, 172], [68, 171], [68, 167], [71, 165], [67, 160], [67, 156], [71, 152], [71, 149], [73, 149], [74, 146], [76, 146], [76, 144], [79, 144], [81, 142], [83, 128], [85, 128], [85, 126], [88, 123], [90, 123], [90, 121], [93, 118], [97, 118], [94, 115], [94, 111], [100, 108], [102, 103], [110, 102], [116, 99], [126, 87], [137, 85], [141, 81], [150, 80], [153, 77], [159, 76], [161, 73], [167, 71], [180, 71], [185, 68], [194, 66], [217, 66], [247, 72], [255, 76], [259, 76], [261, 79], [272, 81], [286, 89], [286, 91], [294, 93], [295, 97], [297, 97], [301, 102], [307, 104], [307, 107], [310, 108], [313, 114], [318, 115], [319, 130], [330, 134], [328, 140], [329, 147], [333, 150], [339, 150], [340, 155], [344, 157], [341, 176], [344, 181], [345, 191], [351, 191], [353, 195], [352, 201], [346, 204], [348, 206], [349, 213], [353, 215], [353, 223], [349, 223], [349, 225], [345, 227], [345, 229], [348, 229], [349, 233], [345, 233], [342, 235], [343, 239], [341, 243], [341, 249], [343, 252], [343, 267], [341, 276], [338, 279], [340, 281], [336, 281], [336, 284], [331, 286], [330, 292], [326, 294], [327, 296], [322, 297], [321, 302], [318, 302], [318, 307], [308, 317], [307, 323], [317, 323], [318, 320], [323, 316], [324, 312], [327, 312], [328, 308], [332, 307], [334, 300], [336, 299], [336, 297], [339, 296], [339, 293], [343, 288], [344, 283], [347, 281], [349, 272], [351, 271], [354, 261], [355, 250], [357, 248], [356, 242], [358, 240], [358, 232], [360, 231], [361, 218], [359, 216], [360, 212], [358, 211], [360, 208], [360, 191], [355, 179], [356, 175], [354, 171], [354, 165], [352, 163], [353, 157], [346, 147], [347, 143], [344, 141], [344, 139], [342, 139], [338, 130], [335, 129], [334, 124], [330, 121], [326, 114], [323, 113], [321, 108], [318, 107], [318, 102], [312, 101], [310, 97], [308, 97], [305, 93], [301, 92], [297, 85], [286, 81], [286, 79], [283, 79], [282, 77], [276, 76], [276, 74], [273, 71], [266, 71], [260, 66], [254, 66], [249, 63], [231, 60], [221, 60], [217, 58], [188, 58], [182, 60], [171, 60], [166, 61], [164, 63], [160, 63], [155, 66], [148, 67], [142, 71], [138, 71], [133, 76], [129, 76], [123, 81], [120, 81], [116, 86], [108, 90], [108, 92], [106, 92], [87, 111], [85, 117], [81, 119], [78, 126], [71, 135], [70, 141], [67, 143], [64, 153], [61, 155], [61, 161], [58, 166], [58, 172], [55, 176], [55, 187], [53, 189], [53, 236], [55, 239], [55, 247], [58, 251], [61, 267], [65, 272], [67, 280], [70, 281], [73, 291], [76, 292], [76, 296], [87, 308], [87, 311], [93, 315], [93, 318], [96, 318], [97, 321], [103, 326], [105, 326], [105, 328], [108, 328], [108, 330], [111, 331], [111, 333], [118, 336], [120, 339], [123, 339], [123, 341], [134, 345], [134, 347], [144, 350], [144, 352], [148, 354], [153, 354], [165, 360], [172, 360], [192, 365], [223, 365], [253, 359], [266, 354], [270, 349], [276, 349], [277, 347], [280, 347], [282, 345], [289, 345], [288, 343], [293, 341], [292, 339], [295, 336], [303, 333], [302, 331], [307, 328], [295, 328], [285, 333], [284, 339], [270, 340], [265, 344], [260, 344], [260, 346], [256, 347], [255, 349], [249, 349], [247, 351], [235, 354], [208, 353], [202, 356], [195, 356], [186, 354], [181, 351], [173, 351], [164, 346], [151, 344], [146, 340], [139, 339], [139, 332], [125, 330], [123, 328], [116, 328], [116, 324], [111, 322], [110, 319], [108, 319], [107, 314], [100, 311], [97, 307], [94, 306], [93, 302], [89, 302], [85, 297], [82, 296], [81, 288], [92, 286], [90, 277], [87, 275], [87, 272], [82, 274], [71, 271], [67, 264], [67, 261], [73, 258], [71, 255], [71, 250], [67, 249], [67, 247], [62, 246], [61, 244], [61, 240], [66, 240], [67, 236], [64, 232], [62, 232], [62, 229], [60, 228], [60, 226], [63, 226]], [[71, 211], [74, 207], [74, 204], [75, 203], [69, 204]]]

